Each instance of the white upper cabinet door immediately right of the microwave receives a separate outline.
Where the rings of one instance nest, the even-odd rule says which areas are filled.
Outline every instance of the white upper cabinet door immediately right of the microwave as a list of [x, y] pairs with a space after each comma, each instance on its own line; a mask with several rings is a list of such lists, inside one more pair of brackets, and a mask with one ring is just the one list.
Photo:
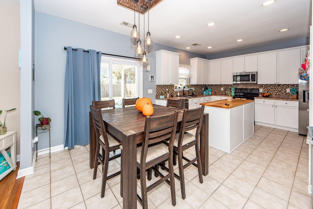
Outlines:
[[277, 53], [258, 54], [258, 84], [276, 84]]

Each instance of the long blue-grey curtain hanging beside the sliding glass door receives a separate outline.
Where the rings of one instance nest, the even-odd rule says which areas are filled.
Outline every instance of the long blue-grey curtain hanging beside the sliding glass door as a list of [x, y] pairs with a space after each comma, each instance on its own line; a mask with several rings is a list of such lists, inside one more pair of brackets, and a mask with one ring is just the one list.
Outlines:
[[64, 147], [89, 143], [89, 105], [100, 100], [101, 52], [67, 46]]

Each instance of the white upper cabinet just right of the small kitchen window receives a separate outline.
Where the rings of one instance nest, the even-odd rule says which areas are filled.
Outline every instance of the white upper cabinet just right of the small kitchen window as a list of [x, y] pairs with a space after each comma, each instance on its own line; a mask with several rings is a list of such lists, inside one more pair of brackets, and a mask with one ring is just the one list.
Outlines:
[[190, 84], [209, 83], [209, 60], [199, 57], [190, 59]]

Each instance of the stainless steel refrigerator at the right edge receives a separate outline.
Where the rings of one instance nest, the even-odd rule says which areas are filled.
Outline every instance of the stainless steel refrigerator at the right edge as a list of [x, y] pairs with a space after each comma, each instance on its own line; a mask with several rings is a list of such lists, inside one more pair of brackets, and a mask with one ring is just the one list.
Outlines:
[[299, 69], [299, 129], [298, 133], [307, 135], [309, 126], [309, 80], [301, 80], [300, 75], [303, 70]]

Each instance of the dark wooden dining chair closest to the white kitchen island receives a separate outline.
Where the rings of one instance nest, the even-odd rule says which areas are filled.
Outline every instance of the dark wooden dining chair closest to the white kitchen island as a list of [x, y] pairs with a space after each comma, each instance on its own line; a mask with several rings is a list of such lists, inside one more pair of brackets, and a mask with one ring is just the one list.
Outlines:
[[[198, 167], [199, 181], [201, 184], [203, 183], [200, 148], [199, 148], [199, 141], [200, 141], [199, 138], [200, 138], [200, 132], [201, 132], [203, 111], [204, 111], [204, 106], [201, 106], [200, 108], [196, 108], [196, 109], [191, 109], [191, 110], [184, 109], [182, 121], [180, 125], [180, 130], [179, 130], [179, 133], [176, 134], [175, 139], [174, 139], [173, 164], [174, 162], [176, 162], [177, 157], [178, 157], [178, 163], [179, 163], [179, 175], [177, 174], [174, 174], [174, 175], [180, 181], [182, 199], [186, 198], [184, 172], [183, 172], [184, 168], [188, 167], [191, 164]], [[195, 135], [194, 135], [194, 131], [195, 131]], [[168, 144], [167, 141], [163, 141], [163, 143]], [[183, 156], [183, 151], [193, 146], [195, 147], [196, 157], [193, 159], [188, 159], [185, 156]], [[182, 160], [185, 160], [187, 163], [183, 164]], [[197, 164], [195, 162], [197, 162]], [[164, 166], [162, 167], [164, 168]]]

